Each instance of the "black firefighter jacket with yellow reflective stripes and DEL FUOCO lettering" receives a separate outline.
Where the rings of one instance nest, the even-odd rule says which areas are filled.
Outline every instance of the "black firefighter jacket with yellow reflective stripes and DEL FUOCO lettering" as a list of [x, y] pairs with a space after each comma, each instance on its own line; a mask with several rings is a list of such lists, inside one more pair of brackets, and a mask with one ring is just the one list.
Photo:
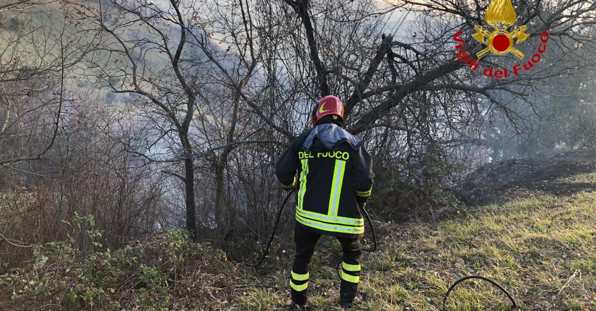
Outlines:
[[340, 120], [321, 118], [300, 134], [278, 159], [276, 173], [283, 187], [297, 186], [298, 225], [338, 237], [364, 233], [358, 205], [371, 195], [373, 160]]

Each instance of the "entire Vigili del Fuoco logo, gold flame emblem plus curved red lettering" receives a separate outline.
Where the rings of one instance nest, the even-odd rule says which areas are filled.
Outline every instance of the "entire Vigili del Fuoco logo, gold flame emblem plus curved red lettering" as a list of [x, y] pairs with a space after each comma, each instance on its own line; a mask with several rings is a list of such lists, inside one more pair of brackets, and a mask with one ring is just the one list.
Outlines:
[[541, 43], [538, 45], [536, 54], [524, 59], [524, 53], [517, 49], [516, 45], [530, 37], [530, 34], [526, 33], [527, 26], [515, 26], [513, 30], [507, 30], [513, 26], [516, 19], [516, 11], [513, 9], [511, 0], [492, 0], [485, 13], [486, 23], [492, 27], [492, 31], [489, 27], [476, 25], [474, 26], [476, 33], [472, 34], [472, 37], [483, 45], [486, 45], [486, 48], [476, 53], [476, 57], [468, 54], [464, 49], [465, 42], [460, 38], [464, 30], [460, 30], [453, 35], [453, 39], [458, 43], [455, 46], [455, 56], [459, 61], [468, 64], [468, 67], [474, 71], [480, 66], [480, 58], [490, 53], [499, 56], [512, 54], [522, 61], [510, 69], [507, 67], [502, 69], [494, 67], [485, 68], [482, 74], [487, 77], [507, 78], [517, 76], [523, 70], [531, 70], [534, 64], [540, 61], [542, 53], [547, 50], [548, 32], [544, 30], [541, 33]]

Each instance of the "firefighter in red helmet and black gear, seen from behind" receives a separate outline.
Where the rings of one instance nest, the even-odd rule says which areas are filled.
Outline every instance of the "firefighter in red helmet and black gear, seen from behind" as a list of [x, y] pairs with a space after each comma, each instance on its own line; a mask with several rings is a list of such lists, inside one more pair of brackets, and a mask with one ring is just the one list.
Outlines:
[[339, 98], [321, 98], [311, 119], [314, 127], [300, 134], [276, 165], [281, 186], [297, 189], [296, 255], [290, 274], [292, 308], [306, 309], [308, 266], [321, 234], [337, 237], [342, 244], [339, 303], [350, 307], [361, 271], [364, 219], [359, 207], [364, 208], [373, 189], [373, 161], [361, 142], [344, 130]]

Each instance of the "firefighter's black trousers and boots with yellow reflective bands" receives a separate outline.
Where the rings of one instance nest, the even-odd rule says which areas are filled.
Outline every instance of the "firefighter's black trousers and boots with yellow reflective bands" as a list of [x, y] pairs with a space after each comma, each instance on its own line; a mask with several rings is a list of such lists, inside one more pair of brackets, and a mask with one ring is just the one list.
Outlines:
[[[309, 263], [315, 252], [316, 242], [321, 234], [314, 233], [302, 225], [296, 224], [294, 242], [296, 242], [296, 255], [290, 277], [292, 302], [305, 305], [308, 297]], [[340, 303], [352, 303], [358, 282], [360, 280], [360, 256], [362, 250], [359, 238], [337, 237], [342, 244], [342, 284], [340, 287]]]

